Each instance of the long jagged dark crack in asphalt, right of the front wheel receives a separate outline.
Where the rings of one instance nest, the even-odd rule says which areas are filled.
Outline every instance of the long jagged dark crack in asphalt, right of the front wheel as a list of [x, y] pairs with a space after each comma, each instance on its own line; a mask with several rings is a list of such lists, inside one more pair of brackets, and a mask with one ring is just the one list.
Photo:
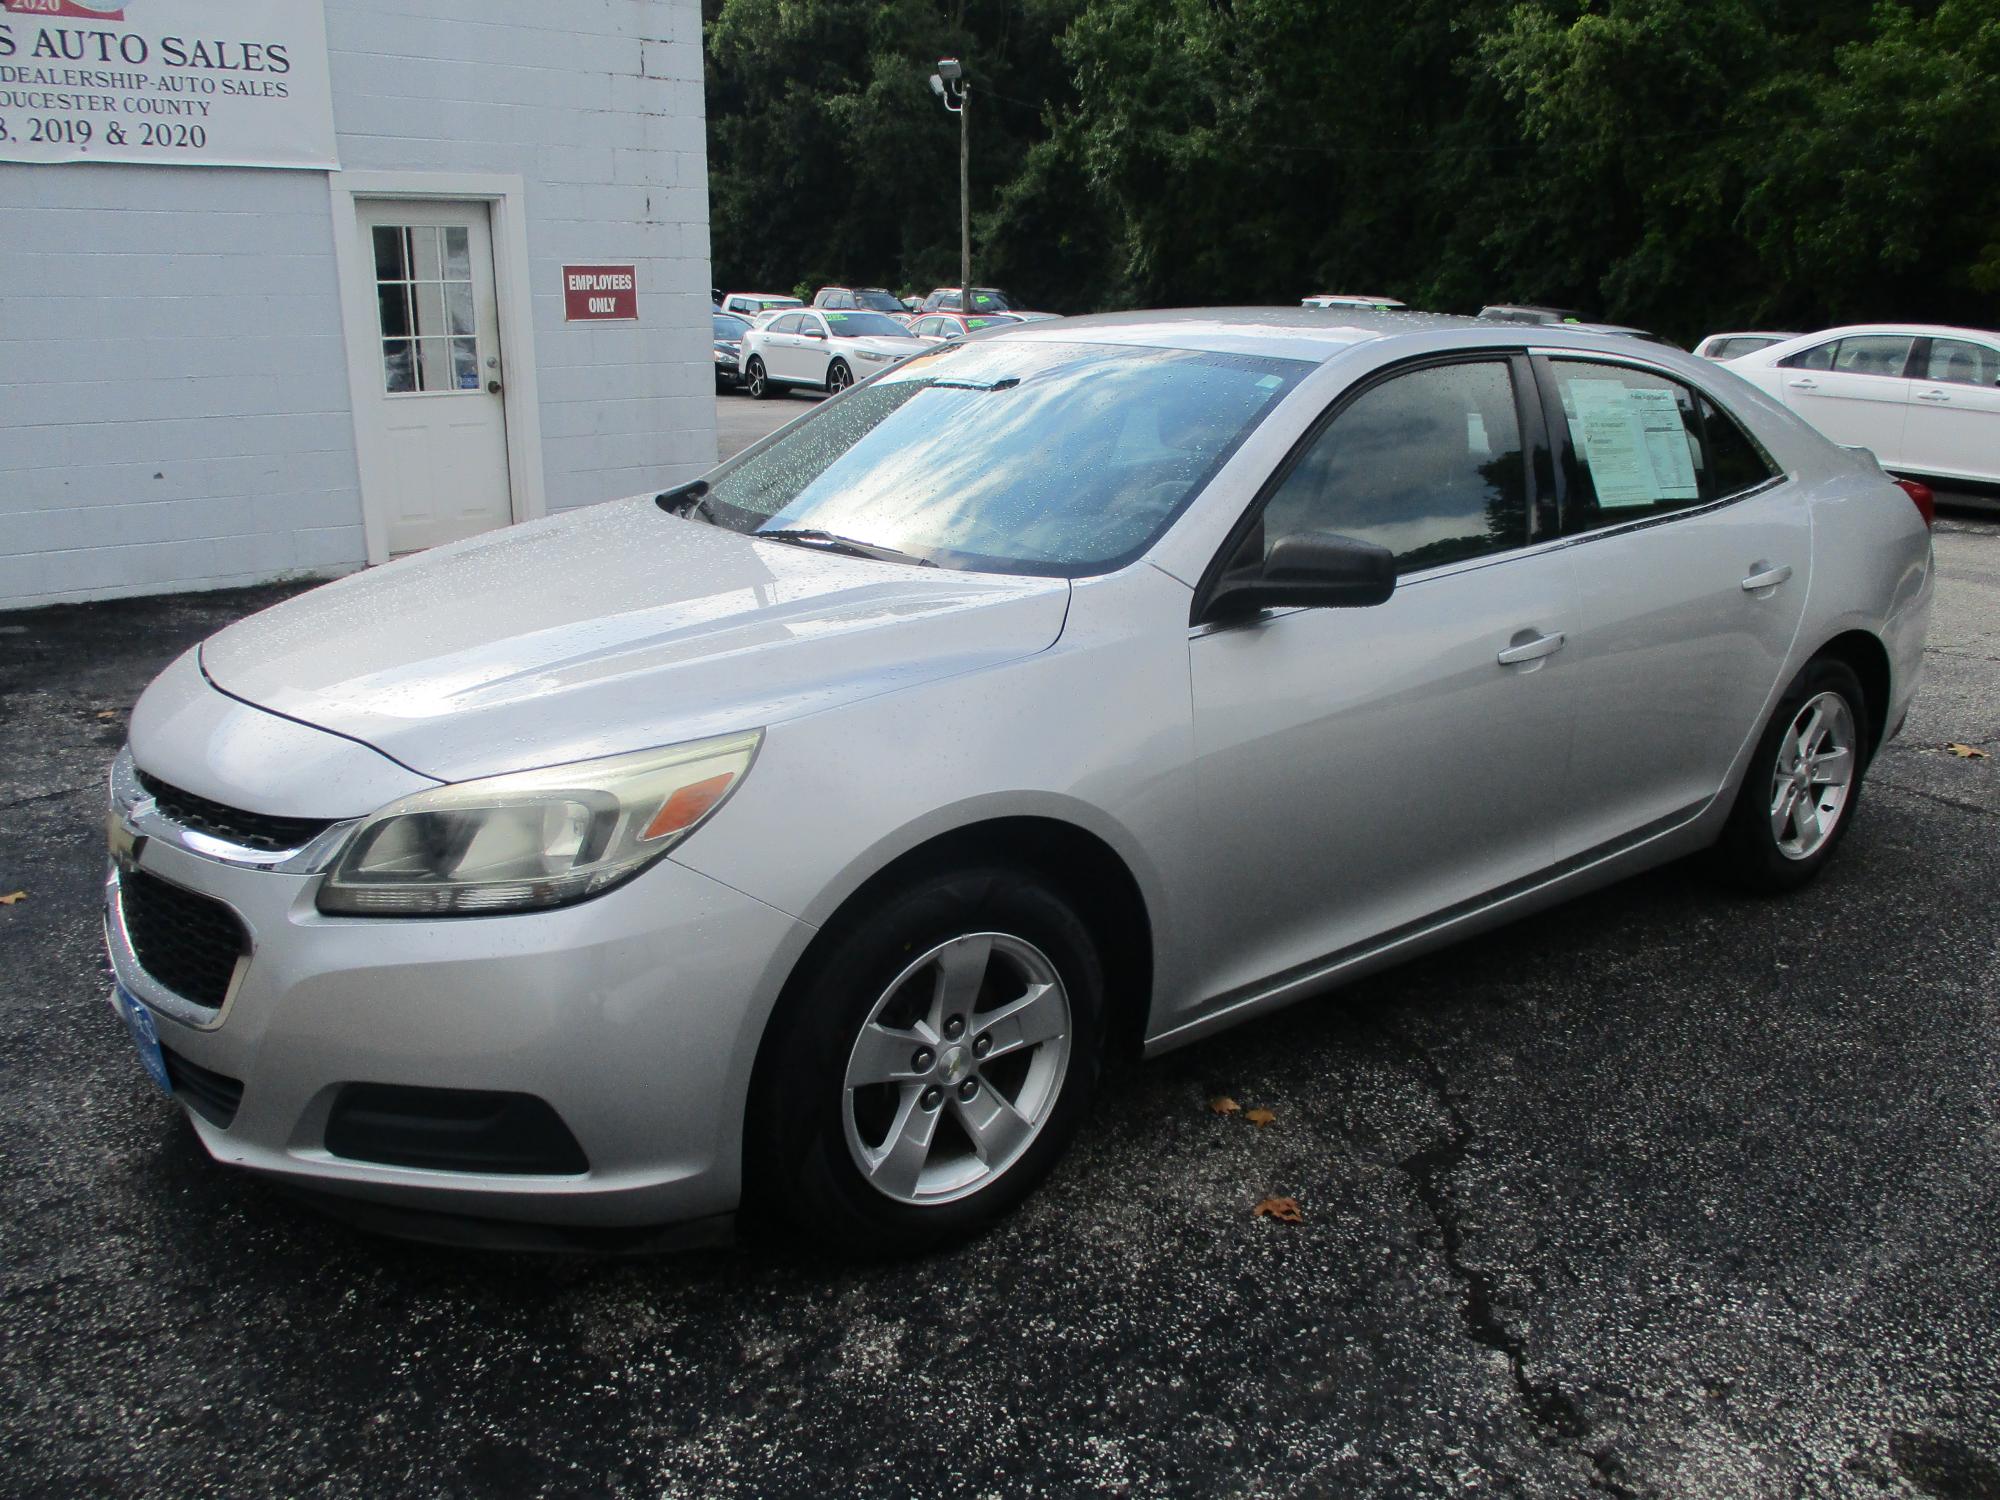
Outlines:
[[1474, 1344], [1506, 1358], [1514, 1394], [1528, 1422], [1534, 1426], [1538, 1442], [1548, 1448], [1568, 1450], [1576, 1458], [1586, 1460], [1590, 1464], [1588, 1482], [1592, 1490], [1620, 1496], [1620, 1500], [1640, 1500], [1642, 1490], [1634, 1490], [1620, 1478], [1624, 1466], [1612, 1450], [1608, 1446], [1586, 1446], [1590, 1420], [1576, 1400], [1554, 1384], [1528, 1374], [1524, 1342], [1508, 1330], [1498, 1312], [1498, 1282], [1492, 1272], [1466, 1260], [1466, 1234], [1444, 1182], [1466, 1160], [1478, 1132], [1466, 1120], [1458, 1100], [1452, 1098], [1444, 1068], [1438, 1066], [1438, 1060], [1414, 1036], [1396, 1030], [1382, 1018], [1374, 1018], [1374, 1026], [1416, 1064], [1424, 1088], [1438, 1102], [1438, 1108], [1444, 1110], [1448, 1122], [1442, 1140], [1404, 1156], [1396, 1162], [1396, 1168], [1410, 1180], [1410, 1188], [1416, 1192], [1418, 1202], [1424, 1204], [1424, 1212], [1438, 1226], [1438, 1236], [1444, 1242], [1446, 1270], [1464, 1286], [1460, 1316], [1464, 1318], [1466, 1334]]

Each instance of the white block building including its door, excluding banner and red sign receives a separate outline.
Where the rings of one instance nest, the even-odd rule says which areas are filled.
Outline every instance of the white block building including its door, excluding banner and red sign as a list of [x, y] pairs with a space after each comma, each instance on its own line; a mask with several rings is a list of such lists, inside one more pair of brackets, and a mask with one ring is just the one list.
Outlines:
[[[106, 6], [4, 4], [18, 138], [92, 84], [20, 12]], [[340, 170], [0, 162], [0, 608], [328, 576], [714, 462], [696, 0], [324, 30]], [[636, 320], [568, 322], [566, 266], [630, 266]]]

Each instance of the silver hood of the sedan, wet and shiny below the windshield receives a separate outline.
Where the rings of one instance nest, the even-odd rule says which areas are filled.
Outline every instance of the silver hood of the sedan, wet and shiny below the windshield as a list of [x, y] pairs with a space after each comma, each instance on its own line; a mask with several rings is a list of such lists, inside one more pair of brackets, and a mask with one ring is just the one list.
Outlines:
[[648, 498], [392, 562], [202, 646], [222, 692], [466, 780], [774, 724], [1046, 650], [1062, 578], [914, 568]]

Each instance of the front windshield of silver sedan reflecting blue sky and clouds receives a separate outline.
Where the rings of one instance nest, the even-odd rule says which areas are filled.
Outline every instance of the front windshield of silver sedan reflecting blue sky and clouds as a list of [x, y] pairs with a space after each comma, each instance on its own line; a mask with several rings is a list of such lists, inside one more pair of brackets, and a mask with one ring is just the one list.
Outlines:
[[1108, 572], [1150, 548], [1310, 370], [1108, 344], [942, 346], [732, 458], [700, 512], [944, 568]]

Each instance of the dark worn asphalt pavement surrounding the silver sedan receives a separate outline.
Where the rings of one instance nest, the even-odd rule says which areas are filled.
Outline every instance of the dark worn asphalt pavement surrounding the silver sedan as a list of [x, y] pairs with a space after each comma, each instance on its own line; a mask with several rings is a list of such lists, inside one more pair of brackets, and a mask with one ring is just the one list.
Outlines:
[[1936, 546], [1808, 892], [1662, 870], [1116, 1072], [882, 1266], [408, 1246], [214, 1166], [104, 1004], [102, 772], [282, 590], [0, 616], [0, 1492], [2000, 1496], [2000, 526]]

